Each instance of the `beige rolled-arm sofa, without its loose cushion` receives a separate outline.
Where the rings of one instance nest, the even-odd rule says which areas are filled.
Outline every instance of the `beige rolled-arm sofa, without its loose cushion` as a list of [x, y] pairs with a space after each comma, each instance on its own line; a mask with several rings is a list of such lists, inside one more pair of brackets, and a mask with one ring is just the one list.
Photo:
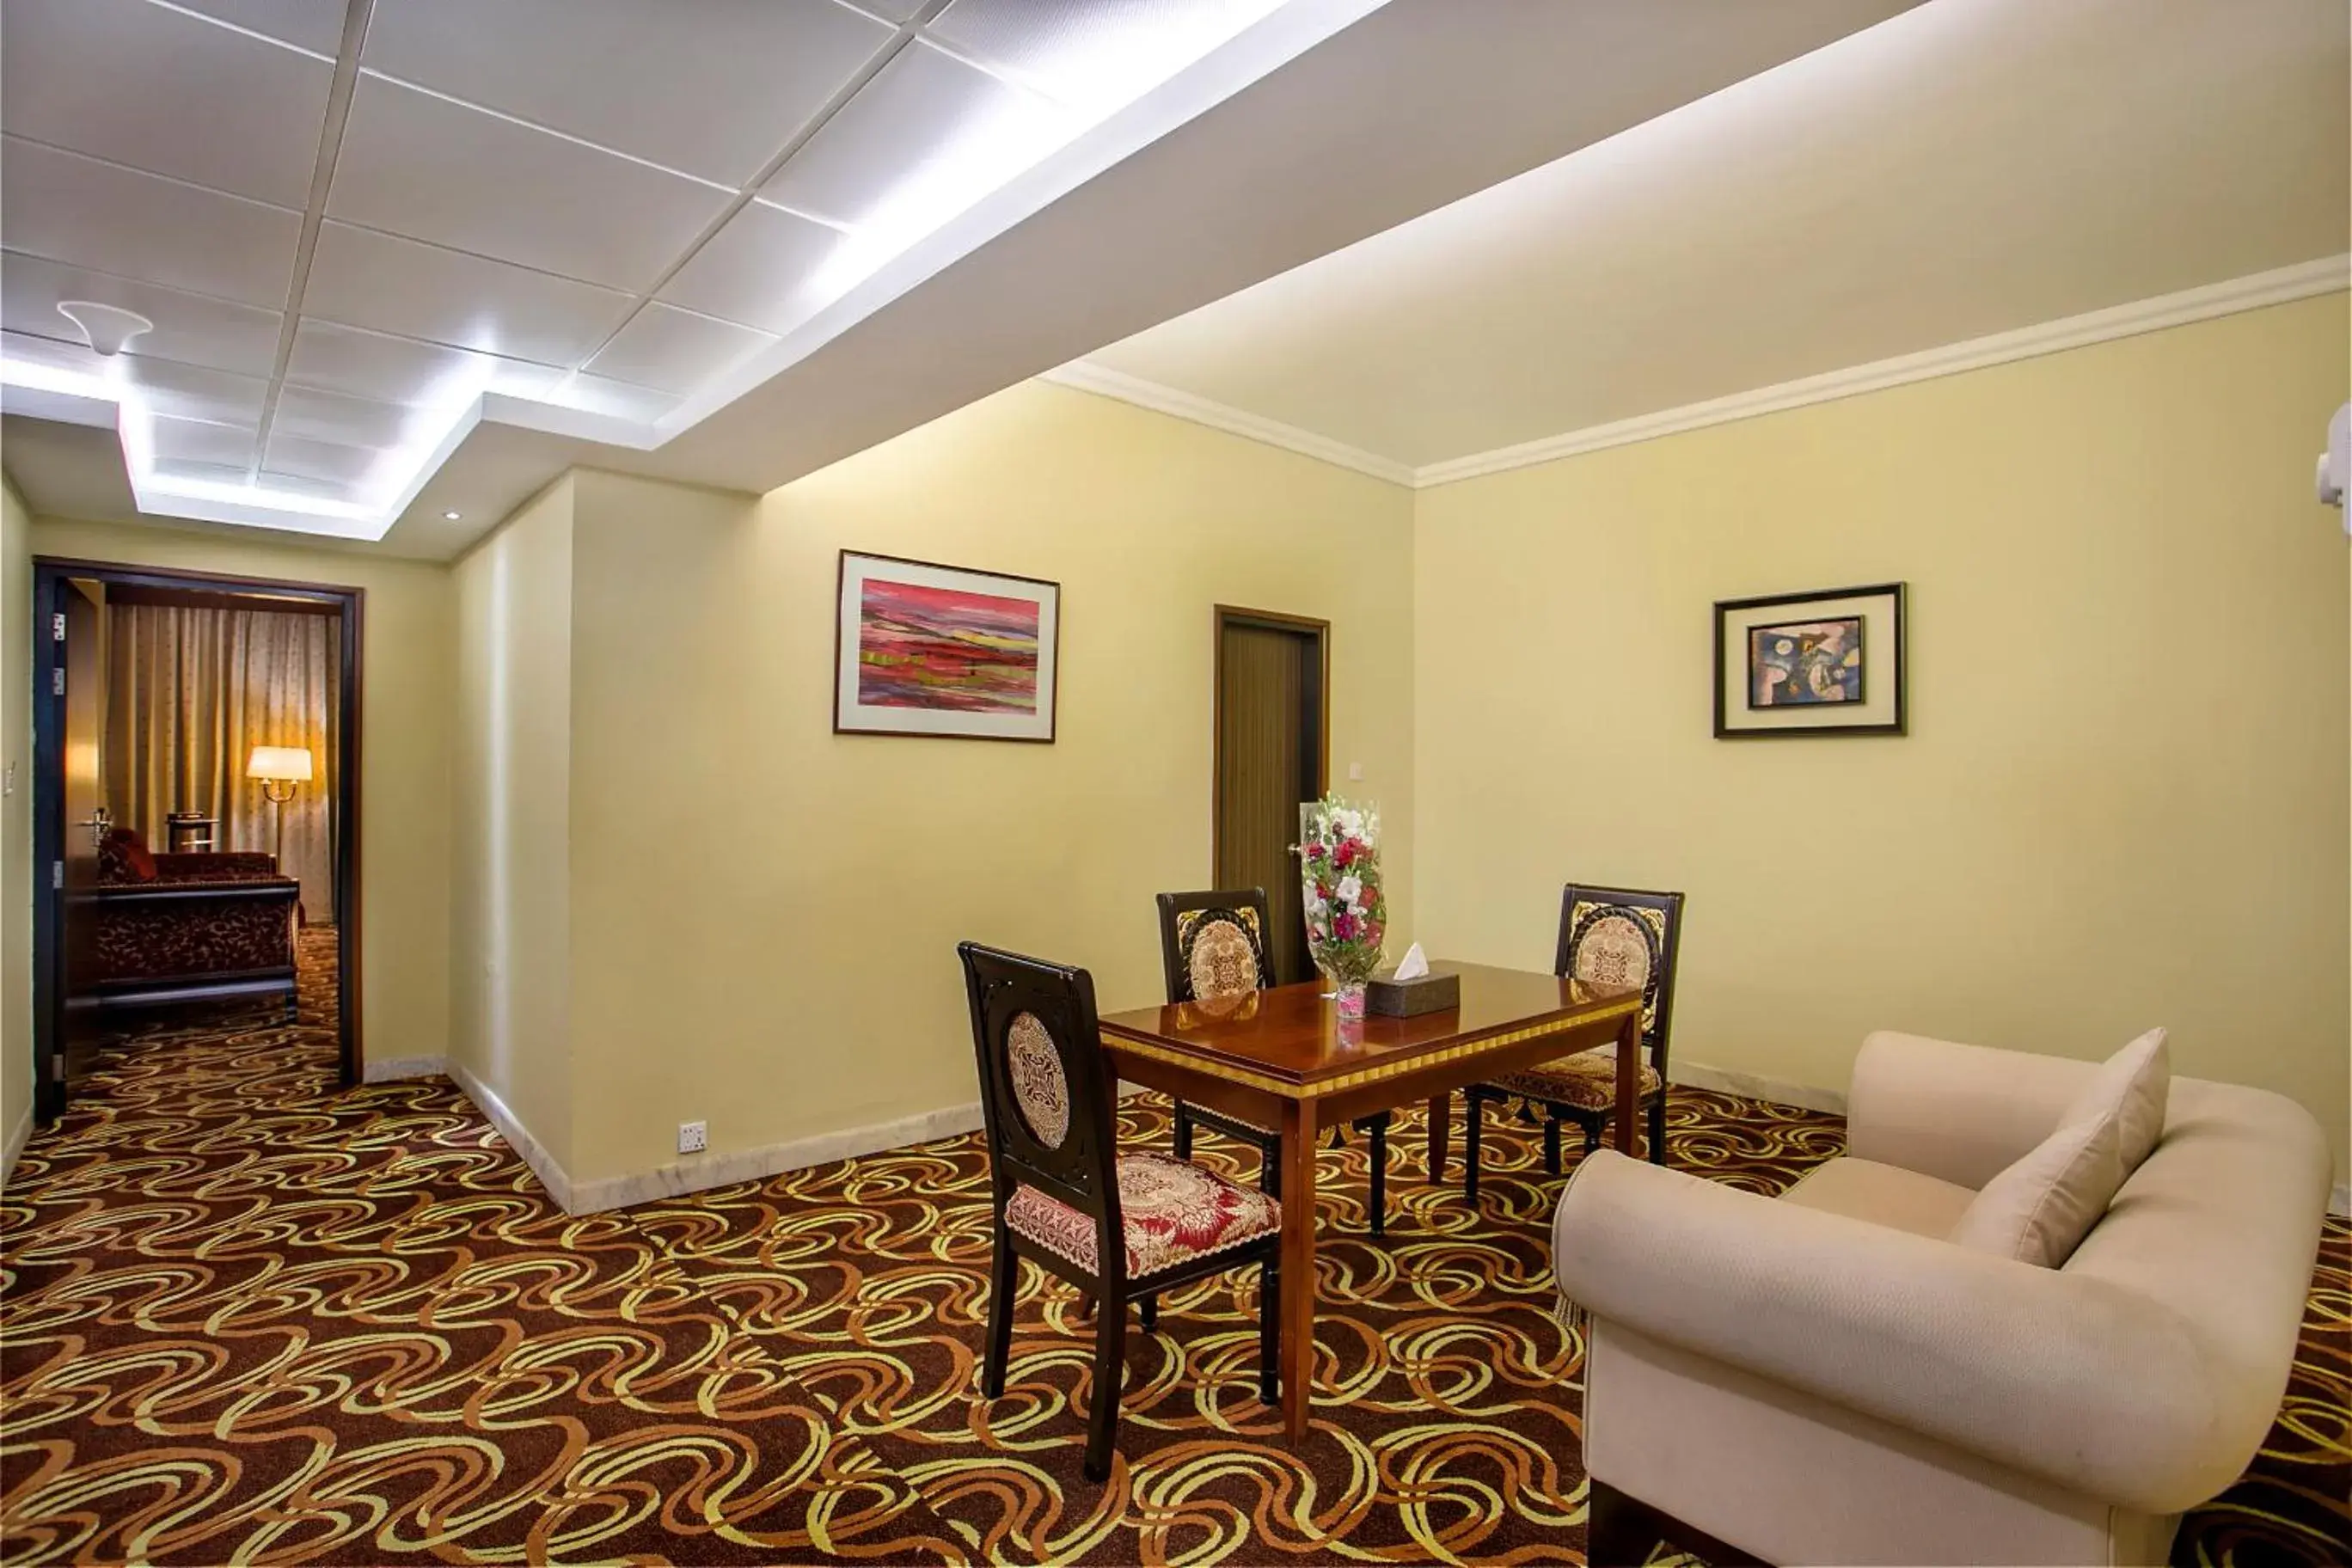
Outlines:
[[2328, 1147], [2291, 1100], [2173, 1079], [2065, 1267], [1945, 1241], [2093, 1067], [1872, 1034], [1849, 1154], [1778, 1199], [1585, 1159], [1552, 1244], [1595, 1509], [1769, 1563], [2161, 1563], [2279, 1410]]

